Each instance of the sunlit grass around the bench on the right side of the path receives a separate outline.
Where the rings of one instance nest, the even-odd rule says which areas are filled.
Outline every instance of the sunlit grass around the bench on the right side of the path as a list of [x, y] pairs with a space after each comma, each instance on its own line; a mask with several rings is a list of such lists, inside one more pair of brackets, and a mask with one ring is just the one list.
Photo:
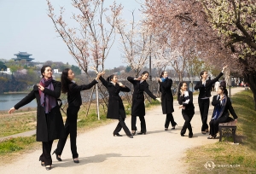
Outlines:
[[[238, 115], [236, 141], [225, 138], [205, 146], [189, 149], [186, 162], [189, 173], [255, 173], [256, 169], [256, 111], [253, 110], [253, 93], [250, 90], [232, 96], [232, 105]], [[212, 161], [210, 171], [204, 165]]]

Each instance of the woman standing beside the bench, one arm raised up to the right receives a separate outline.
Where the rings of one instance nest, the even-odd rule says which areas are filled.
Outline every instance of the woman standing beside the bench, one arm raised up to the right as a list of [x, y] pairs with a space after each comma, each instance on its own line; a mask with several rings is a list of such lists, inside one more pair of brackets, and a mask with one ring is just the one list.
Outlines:
[[199, 110], [201, 114], [201, 133], [206, 134], [208, 130], [207, 125], [207, 118], [208, 118], [208, 111], [210, 107], [210, 97], [211, 97], [211, 89], [212, 84], [218, 81], [218, 78], [220, 78], [224, 74], [224, 69], [228, 66], [224, 66], [222, 69], [222, 72], [218, 74], [218, 76], [214, 79], [207, 79], [208, 74], [206, 71], [202, 71], [200, 73], [201, 81], [195, 84], [195, 90], [199, 90], [199, 96], [198, 96], [198, 105]]

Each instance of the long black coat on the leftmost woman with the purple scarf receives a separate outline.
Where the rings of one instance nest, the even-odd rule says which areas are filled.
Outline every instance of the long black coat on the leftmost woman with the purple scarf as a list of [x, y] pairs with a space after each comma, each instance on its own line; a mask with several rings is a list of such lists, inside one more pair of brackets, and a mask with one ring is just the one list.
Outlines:
[[[58, 99], [61, 96], [61, 82], [52, 81], [54, 90], [44, 88], [44, 94]], [[15, 109], [25, 106], [27, 103], [36, 99], [38, 103], [37, 109], [37, 141], [49, 142], [60, 139], [64, 136], [64, 124], [58, 103], [45, 115], [44, 107], [41, 106], [38, 86], [34, 85], [33, 90], [15, 105]]]

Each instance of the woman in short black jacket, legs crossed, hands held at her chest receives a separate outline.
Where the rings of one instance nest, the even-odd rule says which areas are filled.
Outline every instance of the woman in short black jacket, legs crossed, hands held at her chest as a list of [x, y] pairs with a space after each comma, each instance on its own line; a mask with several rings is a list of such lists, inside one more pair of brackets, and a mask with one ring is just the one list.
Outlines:
[[190, 124], [191, 119], [195, 114], [195, 107], [193, 104], [193, 93], [188, 91], [188, 85], [185, 82], [181, 82], [177, 89], [177, 101], [180, 104], [179, 108], [182, 108], [183, 119], [185, 123], [180, 132], [181, 136], [184, 136], [186, 130], [189, 130], [189, 138], [193, 136], [192, 126]]

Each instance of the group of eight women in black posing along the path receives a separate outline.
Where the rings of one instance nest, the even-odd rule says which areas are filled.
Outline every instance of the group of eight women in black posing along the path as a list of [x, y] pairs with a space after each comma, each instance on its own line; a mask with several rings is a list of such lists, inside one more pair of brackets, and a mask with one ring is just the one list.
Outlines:
[[[224, 67], [225, 68], [225, 67]], [[224, 71], [224, 69], [223, 69]], [[57, 148], [53, 154], [56, 159], [61, 161], [61, 154], [65, 143], [67, 142], [67, 136], [70, 135], [71, 152], [73, 154], [73, 162], [79, 163], [79, 154], [77, 152], [76, 137], [77, 137], [77, 119], [80, 106], [82, 104], [82, 98], [80, 95], [81, 90], [88, 90], [93, 85], [101, 80], [102, 84], [108, 90], [108, 119], [118, 119], [119, 124], [113, 131], [113, 136], [121, 136], [119, 131], [123, 128], [126, 136], [133, 138], [137, 131], [137, 117], [141, 121], [141, 131], [138, 135], [146, 134], [146, 122], [145, 122], [145, 106], [144, 106], [144, 94], [146, 92], [154, 100], [161, 102], [162, 113], [166, 114], [165, 131], [171, 123], [172, 130], [175, 129], [177, 123], [173, 119], [173, 96], [172, 96], [172, 79], [168, 78], [167, 72], [160, 74], [158, 78], [160, 84], [161, 98], [157, 98], [148, 89], [148, 83], [146, 79], [149, 73], [143, 72], [140, 77], [132, 78], [128, 77], [127, 80], [133, 85], [134, 91], [132, 94], [132, 106], [131, 106], [131, 131], [125, 125], [125, 107], [122, 102], [119, 92], [129, 92], [130, 89], [122, 83], [118, 82], [116, 75], [111, 75], [107, 79], [102, 78], [102, 73], [97, 73], [96, 78], [90, 82], [90, 84], [78, 85], [74, 79], [74, 73], [71, 69], [65, 69], [61, 74], [61, 82], [55, 81], [52, 78], [52, 70], [49, 66], [41, 68], [42, 78], [40, 82], [33, 87], [33, 90], [20, 102], [15, 104], [15, 107], [9, 109], [9, 113], [13, 113], [16, 109], [25, 106], [27, 103], [32, 102], [33, 99], [37, 100], [37, 141], [42, 142], [43, 153], [39, 157], [41, 165], [45, 166], [46, 170], [51, 169], [51, 148], [55, 139], [59, 139]], [[207, 113], [209, 108], [209, 97], [211, 96], [211, 86], [214, 82], [222, 76], [220, 73], [217, 78], [213, 80], [207, 79], [207, 72], [201, 73], [201, 81], [195, 85], [195, 90], [200, 90], [199, 94], [199, 107], [201, 111], [202, 128], [201, 131], [205, 134], [208, 131], [207, 125]], [[61, 92], [67, 93], [67, 119], [65, 125], [61, 117], [60, 104], [58, 101], [61, 96]], [[190, 124], [191, 119], [195, 114], [195, 107], [193, 104], [193, 94], [188, 90], [188, 86], [185, 82], [181, 82], [177, 90], [177, 101], [180, 104], [179, 108], [182, 109], [183, 119], [185, 120], [183, 128], [180, 132], [181, 136], [184, 136], [186, 130], [189, 130], [189, 138], [193, 136], [192, 126]], [[230, 98], [227, 96], [224, 86], [218, 88], [218, 96], [213, 97], [212, 105], [214, 111], [212, 114], [212, 120], [210, 122], [210, 136], [209, 139], [215, 138], [218, 132], [218, 123], [225, 122], [229, 118], [229, 112], [233, 115], [235, 121], [237, 121], [236, 113], [231, 106]]]

